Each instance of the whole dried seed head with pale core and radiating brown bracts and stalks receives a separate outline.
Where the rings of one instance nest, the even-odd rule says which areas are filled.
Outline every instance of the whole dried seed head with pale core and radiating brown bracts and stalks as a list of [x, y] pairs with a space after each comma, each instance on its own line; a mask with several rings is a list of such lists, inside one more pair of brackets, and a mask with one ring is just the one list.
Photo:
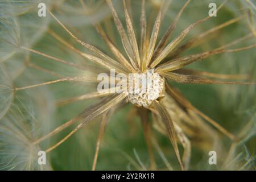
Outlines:
[[[147, 16], [146, 10], [148, 2], [153, 2], [153, 4], [157, 4], [156, 16], [154, 16], [155, 12], [152, 12], [150, 15]], [[1, 29], [3, 30], [3, 35], [10, 35], [10, 39], [3, 38], [3, 40], [5, 41], [4, 45], [11, 47], [11, 50], [13, 50], [9, 55], [1, 56], [0, 62], [1, 94], [5, 94], [3, 95], [4, 97], [1, 97], [1, 105], [3, 103], [3, 107], [1, 107], [0, 113], [0, 125], [2, 125], [0, 126], [0, 131], [2, 133], [2, 136], [5, 136], [5, 134], [8, 136], [7, 131], [10, 130], [9, 128], [14, 128], [14, 131], [12, 132], [26, 140], [27, 143], [25, 142], [24, 145], [30, 146], [30, 151], [28, 152], [28, 154], [32, 153], [32, 156], [34, 156], [37, 153], [36, 151], [38, 151], [40, 146], [42, 146], [42, 150], [46, 151], [46, 154], [48, 155], [49, 152], [55, 150], [55, 148], [62, 146], [61, 144], [65, 143], [65, 141], [68, 141], [69, 138], [77, 133], [77, 131], [89, 125], [89, 122], [97, 120], [97, 118], [100, 117], [100, 127], [98, 129], [93, 160], [91, 161], [92, 169], [95, 170], [97, 168], [101, 142], [102, 140], [104, 140], [105, 130], [112, 120], [111, 117], [116, 112], [118, 112], [118, 110], [122, 110], [124, 107], [126, 107], [126, 105], [130, 105], [131, 103], [131, 114], [128, 113], [130, 115], [129, 120], [133, 120], [133, 118], [135, 118], [135, 115], [138, 115], [138, 118], [142, 123], [144, 140], [147, 146], [146, 150], [149, 161], [148, 168], [150, 169], [160, 169], [158, 167], [158, 162], [156, 162], [155, 159], [154, 147], [155, 150], [159, 152], [163, 163], [166, 165], [167, 169], [172, 169], [172, 167], [170, 167], [170, 164], [168, 164], [168, 160], [164, 157], [163, 152], [160, 150], [160, 147], [156, 142], [153, 134], [154, 131], [152, 130], [153, 128], [158, 131], [158, 133], [168, 137], [171, 146], [173, 147], [174, 154], [176, 156], [176, 158], [173, 159], [177, 160], [177, 163], [179, 164], [179, 168], [177, 169], [181, 170], [190, 169], [192, 145], [200, 148], [200, 150], [210, 151], [210, 149], [213, 148], [212, 146], [214, 144], [218, 142], [221, 143], [220, 136], [222, 135], [225, 136], [225, 139], [228, 138], [229, 141], [232, 143], [231, 148], [234, 147], [236, 143], [242, 142], [242, 140], [246, 138], [246, 134], [249, 134], [248, 131], [243, 130], [243, 133], [241, 135], [235, 135], [230, 133], [229, 130], [225, 129], [225, 127], [221, 126], [217, 121], [214, 121], [202, 111], [196, 109], [196, 107], [193, 106], [191, 102], [189, 102], [183, 96], [183, 94], [181, 94], [181, 92], [179, 91], [179, 89], [176, 88], [176, 85], [173, 84], [173, 82], [177, 82], [178, 84], [200, 85], [241, 85], [247, 88], [254, 89], [253, 92], [255, 93], [255, 82], [253, 76], [251, 75], [221, 73], [218, 74], [207, 71], [198, 71], [191, 68], [184, 68], [185, 66], [191, 65], [192, 63], [209, 59], [209, 57], [211, 56], [222, 54], [239, 54], [240, 52], [255, 48], [255, 30], [251, 27], [251, 24], [249, 24], [250, 28], [246, 35], [238, 38], [232, 38], [230, 42], [221, 44], [221, 46], [217, 48], [208, 49], [207, 51], [203, 52], [200, 50], [200, 52], [186, 55], [185, 51], [188, 51], [193, 47], [200, 46], [200, 44], [203, 44], [203, 42], [207, 40], [208, 36], [215, 34], [222, 28], [226, 28], [234, 23], [239, 22], [241, 19], [245, 18], [245, 15], [227, 20], [226, 22], [214, 27], [207, 27], [207, 30], [199, 32], [198, 35], [191, 39], [187, 39], [187, 36], [194, 28], [214, 18], [208, 16], [208, 14], [205, 13], [204, 18], [195, 20], [195, 22], [190, 23], [183, 30], [179, 30], [176, 35], [175, 31], [179, 26], [180, 20], [183, 18], [183, 13], [192, 3], [192, 1], [188, 0], [183, 2], [181, 8], [179, 7], [179, 11], [175, 15], [174, 20], [172, 20], [170, 24], [168, 24], [167, 28], [164, 28], [163, 35], [161, 36], [160, 32], [162, 31], [162, 22], [168, 9], [167, 5], [170, 2], [144, 0], [139, 1], [139, 23], [137, 20], [135, 21], [134, 19], [133, 12], [135, 11], [135, 8], [133, 8], [133, 4], [131, 3], [131, 1], [122, 1], [121, 10], [123, 11], [124, 15], [123, 21], [120, 18], [122, 15], [118, 14], [119, 11], [117, 11], [115, 7], [116, 5], [111, 0], [96, 3], [95, 6], [97, 8], [105, 6], [110, 11], [112, 16], [108, 19], [108, 21], [113, 21], [113, 24], [118, 33], [118, 35], [114, 34], [114, 30], [108, 27], [109, 22], [104, 24], [104, 20], [97, 20], [96, 22], [92, 23], [94, 28], [93, 31], [97, 31], [98, 36], [100, 36], [101, 39], [104, 40], [104, 46], [108, 48], [109, 53], [105, 53], [106, 51], [102, 51], [100, 48], [98, 48], [102, 45], [86, 43], [86, 41], [79, 38], [81, 32], [77, 31], [76, 28], [69, 26], [69, 24], [63, 23], [63, 21], [55, 15], [55, 8], [57, 11], [58, 5], [55, 5], [56, 7], [52, 6], [52, 9], [47, 8], [47, 16], [45, 18], [47, 19], [47, 21], [48, 19], [52, 19], [52, 23], [54, 21], [56, 26], [46, 26], [46, 30], [44, 30], [46, 32], [45, 34], [49, 36], [47, 37], [49, 39], [49, 43], [53, 43], [53, 46], [57, 44], [64, 50], [72, 52], [72, 58], [76, 59], [76, 56], [80, 56], [80, 59], [77, 59], [77, 61], [66, 61], [65, 59], [59, 58], [58, 56], [50, 55], [48, 53], [45, 53], [44, 49], [40, 50], [37, 48], [33, 48], [32, 46], [30, 46], [30, 43], [22, 44], [22, 40], [20, 39], [22, 37], [22, 34], [17, 31], [19, 30], [19, 28], [17, 28], [18, 25], [17, 23], [15, 23], [16, 19], [5, 17], [1, 18], [2, 21], [0, 25], [2, 27]], [[222, 11], [226, 3], [227, 1], [224, 1], [218, 6], [217, 13]], [[87, 1], [79, 1], [79, 5], [82, 7], [82, 10], [84, 10], [85, 14], [92, 13], [90, 11], [93, 11], [93, 8], [90, 7], [90, 3], [88, 3]], [[136, 8], [136, 10], [137, 9], [138, 7]], [[13, 28], [13, 31], [10, 31], [8, 30], [8, 28], [5, 27], [5, 24], [8, 26], [12, 24], [12, 22], [14, 22], [14, 27], [10, 26], [11, 28]], [[136, 22], [137, 25], [135, 26]], [[136, 30], [135, 27], [139, 28], [137, 28]], [[15, 36], [13, 36], [12, 34], [14, 34]], [[68, 40], [63, 38], [64, 34], [68, 37]], [[122, 47], [118, 45], [116, 39], [119, 39]], [[250, 44], [246, 46], [240, 46], [240, 44], [242, 44], [246, 40], [251, 40]], [[25, 56], [23, 57], [24, 60], [26, 60], [24, 64], [27, 67], [42, 71], [48, 76], [57, 77], [57, 79], [48, 79], [49, 81], [46, 82], [37, 82], [36, 84], [22, 84], [22, 86], [16, 86], [16, 83], [13, 81], [13, 78], [15, 78], [15, 76], [13, 76], [13, 73], [10, 74], [6, 72], [7, 66], [5, 65], [5, 63], [8, 63], [10, 57], [15, 55], [16, 51], [26, 52]], [[43, 68], [40, 65], [32, 63], [32, 55], [38, 56], [40, 57], [40, 59], [51, 60], [54, 63], [67, 66], [64, 68], [67, 74], [64, 74], [63, 76], [57, 71], [50, 71], [51, 69], [49, 68], [51, 68], [51, 66], [49, 66], [48, 68]], [[84, 62], [88, 64], [85, 64]], [[224, 62], [225, 60], [223, 60], [222, 63]], [[101, 82], [101, 80], [97, 79], [97, 75], [100, 73], [108, 74], [110, 69], [114, 69], [117, 73], [114, 76], [108, 75], [109, 80], [114, 79], [114, 82], [110, 83], [110, 88], [105, 89], [103, 92], [98, 92], [98, 90], [94, 90], [93, 92], [82, 94], [80, 96], [75, 96], [64, 100], [60, 99], [56, 102], [55, 105], [56, 107], [61, 107], [73, 104], [76, 101], [85, 101], [96, 98], [101, 98], [100, 101], [98, 101], [96, 104], [90, 103], [89, 106], [81, 108], [84, 110], [82, 110], [80, 114], [75, 115], [74, 117], [72, 117], [68, 121], [65, 121], [64, 123], [61, 123], [60, 125], [57, 125], [55, 129], [49, 131], [48, 133], [46, 133], [42, 129], [43, 131], [36, 131], [36, 134], [34, 134], [34, 131], [30, 131], [27, 132], [25, 136], [23, 135], [22, 131], [26, 132], [26, 130], [28, 129], [26, 127], [26, 122], [24, 122], [24, 120], [26, 120], [24, 119], [25, 116], [23, 116], [22, 114], [24, 113], [24, 111], [27, 111], [27, 109], [19, 99], [19, 97], [25, 96], [23, 96], [22, 94], [21, 96], [19, 96], [19, 93], [26, 91], [33, 92], [32, 90], [36, 88], [43, 88], [43, 86], [47, 85], [53, 86], [55, 84], [60, 84], [60, 82], [68, 82], [68, 84], [72, 84], [72, 89], [74, 92], [76, 86], [77, 88], [80, 88], [81, 85], [82, 88], [92, 87], [97, 89], [97, 84]], [[65, 76], [68, 75], [68, 73], [71, 73], [72, 76]], [[123, 87], [123, 80], [121, 79], [121, 77], [117, 76], [118, 74], [122, 74], [127, 78], [129, 77], [129, 74], [132, 74], [133, 80], [129, 80], [129, 82], [132, 82], [131, 85], [134, 85], [137, 81], [139, 82], [139, 85], [141, 85], [141, 82], [139, 81], [140, 76], [145, 74], [147, 76], [147, 83], [150, 83], [151, 85], [148, 86], [146, 90], [143, 90], [140, 86], [137, 89], [134, 89], [130, 88], [130, 85], [127, 84], [129, 85], [127, 90], [121, 93], [112, 92], [113, 89]], [[119, 78], [118, 80], [116, 79], [117, 77]], [[192, 87], [194, 85], [190, 86]], [[186, 91], [189, 92], [189, 90]], [[61, 92], [62, 89], [60, 93]], [[72, 92], [72, 90], [69, 92]], [[16, 96], [17, 98], [15, 98]], [[43, 100], [42, 98], [40, 99]], [[14, 100], [19, 104], [11, 104]], [[43, 103], [42, 105], [47, 105], [46, 103], [44, 103], [44, 101], [40, 103]], [[205, 103], [205, 105], [207, 106], [208, 103]], [[10, 115], [8, 113], [13, 114]], [[19, 113], [19, 116], [16, 115], [16, 113]], [[28, 113], [31, 114], [31, 112]], [[44, 117], [45, 116], [42, 115], [42, 118]], [[36, 120], [36, 118], [30, 116], [30, 120], [32, 119]], [[15, 122], [13, 123], [14, 120]], [[43, 120], [45, 121], [45, 119]], [[253, 125], [251, 123], [254, 123], [254, 121], [249, 122], [250, 125], [248, 125], [248, 127], [245, 127], [246, 130], [252, 128], [250, 127], [251, 125]], [[70, 130], [68, 133], [66, 132], [66, 134], [56, 143], [52, 144], [51, 146], [48, 146], [48, 144], [44, 144], [44, 142], [46, 142], [47, 140], [55, 137], [55, 135], [60, 134], [61, 132], [65, 132], [65, 130], [70, 127], [73, 127], [73, 129]], [[118, 130], [118, 128], [115, 128], [115, 130]], [[43, 133], [43, 135], [40, 134], [40, 137], [38, 137], [38, 133]], [[7, 140], [5, 137], [0, 138], [1, 142], [3, 141], [3, 143], [5, 143], [5, 140]], [[181, 146], [183, 150], [182, 153]], [[8, 150], [8, 147], [7, 149], [4, 148], [2, 151], [5, 150]], [[24, 150], [24, 152], [26, 151], [27, 150]], [[26, 156], [26, 154], [23, 155]], [[11, 156], [9, 159], [6, 159], [16, 160], [17, 156], [18, 155], [14, 155], [13, 157]], [[28, 165], [26, 166], [27, 168], [36, 165], [34, 164], [34, 162], [32, 162], [34, 158], [35, 157], [33, 157], [32, 159], [28, 158], [30, 159], [30, 165], [26, 164]], [[251, 158], [247, 160], [246, 165], [249, 164], [250, 161]], [[14, 164], [14, 166], [12, 166], [11, 163], [9, 164], [4, 159], [1, 159], [0, 162], [5, 164], [3, 169], [15, 168], [19, 166], [19, 164]], [[24, 160], [22, 163], [26, 163], [26, 160]], [[134, 164], [134, 166], [136, 166], [136, 164]]]

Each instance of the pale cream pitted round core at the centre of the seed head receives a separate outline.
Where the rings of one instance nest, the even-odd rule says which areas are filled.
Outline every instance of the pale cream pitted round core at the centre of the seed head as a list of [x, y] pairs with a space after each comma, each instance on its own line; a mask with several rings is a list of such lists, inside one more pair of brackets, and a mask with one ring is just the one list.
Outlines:
[[148, 107], [152, 102], [158, 99], [164, 90], [164, 80], [158, 74], [154, 72], [154, 69], [148, 70], [144, 75], [146, 76], [146, 88], [143, 89], [142, 83], [145, 80], [142, 80], [142, 74], [134, 73], [132, 79], [132, 85], [139, 82], [138, 88], [133, 86], [129, 90], [128, 100], [134, 105], [139, 105], [143, 107]]

